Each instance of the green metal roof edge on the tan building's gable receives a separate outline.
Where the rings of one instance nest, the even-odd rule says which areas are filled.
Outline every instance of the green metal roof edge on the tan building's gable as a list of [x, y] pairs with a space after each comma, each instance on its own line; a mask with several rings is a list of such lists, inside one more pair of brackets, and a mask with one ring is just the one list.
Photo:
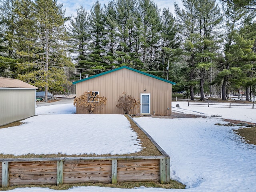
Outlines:
[[88, 78], [84, 78], [84, 79], [73, 82], [73, 84], [77, 84], [77, 83], [80, 83], [80, 82], [83, 82], [83, 81], [86, 81], [86, 80], [89, 80], [89, 79], [92, 79], [92, 78], [96, 78], [96, 77], [99, 77], [99, 76], [102, 76], [102, 75], [105, 75], [105, 74], [108, 74], [108, 73], [112, 73], [112, 72], [120, 70], [120, 69], [128, 69], [128, 70], [131, 70], [131, 71], [134, 71], [134, 72], [137, 72], [137, 73], [140, 73], [140, 74], [143, 74], [143, 75], [146, 75], [146, 76], [149, 76], [149, 77], [152, 77], [152, 78], [155, 78], [155, 79], [158, 79], [158, 80], [161, 80], [161, 81], [173, 84], [173, 85], [176, 85], [175, 82], [172, 82], [172, 81], [166, 80], [164, 78], [160, 78], [160, 77], [157, 77], [157, 76], [154, 76], [154, 75], [151, 75], [151, 74], [148, 74], [148, 73], [145, 73], [145, 72], [127, 67], [127, 66], [122, 66], [122, 67], [115, 68], [113, 70], [109, 70], [109, 71], [106, 71], [106, 72], [103, 72], [103, 73], [100, 73], [100, 74], [97, 74], [97, 75], [94, 75], [94, 76], [90, 76]]

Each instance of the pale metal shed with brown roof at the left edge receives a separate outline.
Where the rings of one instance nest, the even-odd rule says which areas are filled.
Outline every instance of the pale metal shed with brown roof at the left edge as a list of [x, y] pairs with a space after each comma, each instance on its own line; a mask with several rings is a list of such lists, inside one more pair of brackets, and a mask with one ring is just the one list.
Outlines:
[[0, 77], [0, 126], [35, 115], [36, 89], [21, 80]]

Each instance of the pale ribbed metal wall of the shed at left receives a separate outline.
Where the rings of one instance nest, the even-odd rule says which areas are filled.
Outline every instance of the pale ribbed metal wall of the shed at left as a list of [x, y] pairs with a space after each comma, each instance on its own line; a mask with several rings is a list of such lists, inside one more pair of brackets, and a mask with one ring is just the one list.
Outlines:
[[0, 89], [0, 126], [35, 115], [34, 89]]

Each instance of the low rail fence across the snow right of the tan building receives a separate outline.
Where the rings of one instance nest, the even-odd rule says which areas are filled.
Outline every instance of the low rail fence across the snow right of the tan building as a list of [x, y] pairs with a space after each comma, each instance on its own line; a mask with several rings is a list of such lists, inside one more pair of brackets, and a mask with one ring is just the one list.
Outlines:
[[217, 103], [217, 102], [188, 102], [188, 106], [190, 105], [198, 105], [198, 106], [207, 106], [207, 107], [227, 107], [227, 108], [253, 108], [254, 109], [254, 102], [250, 103]]

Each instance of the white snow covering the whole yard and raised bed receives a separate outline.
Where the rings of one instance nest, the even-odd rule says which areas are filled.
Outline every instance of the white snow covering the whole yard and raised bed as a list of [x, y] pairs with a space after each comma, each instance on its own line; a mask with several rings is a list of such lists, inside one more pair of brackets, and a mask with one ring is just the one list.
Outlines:
[[[50, 106], [37, 105], [36, 114], [38, 116], [23, 120], [25, 124], [21, 126], [0, 129], [0, 153], [95, 152], [96, 154], [122, 154], [122, 150], [126, 152], [140, 150], [140, 141], [134, 136], [127, 119], [122, 115], [74, 114], [76, 110], [72, 102], [65, 104], [55, 103]], [[179, 104], [180, 107], [176, 107], [176, 104]], [[170, 156], [170, 177], [185, 184], [185, 189], [145, 188], [144, 186], [119, 189], [90, 186], [72, 187], [68, 190], [58, 191], [49, 188], [16, 188], [10, 190], [10, 192], [255, 191], [256, 146], [247, 144], [240, 136], [234, 133], [234, 130], [239, 127], [215, 125], [216, 123], [225, 124], [226, 122], [223, 120], [225, 118], [256, 123], [255, 108], [229, 108], [223, 106], [208, 108], [206, 106], [188, 106], [187, 102], [172, 102], [172, 111], [200, 114], [204, 117], [171, 119], [144, 116], [134, 118], [134, 120]], [[44, 121], [45, 119], [47, 121]], [[46, 129], [40, 127], [42, 124]], [[84, 131], [80, 129], [81, 125], [85, 129]], [[94, 127], [93, 132], [90, 132], [94, 142], [80, 140], [80, 135], [86, 136], [86, 132], [90, 131], [90, 127]], [[122, 129], [121, 131], [120, 128]], [[76, 134], [76, 131], [79, 134]], [[48, 132], [51, 132], [51, 134], [47, 134]], [[54, 132], [61, 133], [61, 137], [57, 139], [54, 136]], [[116, 135], [112, 134], [112, 132], [119, 132], [121, 140], [112, 138], [113, 135]], [[93, 138], [93, 134], [97, 135], [101, 142], [97, 142], [97, 139]], [[40, 135], [40, 139], [35, 138], [35, 135]], [[22, 140], [20, 138], [25, 139]], [[42, 139], [44, 139], [43, 145], [40, 142]], [[80, 145], [76, 145], [76, 141]], [[59, 142], [62, 144], [60, 145]], [[90, 146], [90, 143], [93, 146]], [[84, 144], [86, 144], [86, 147], [84, 147]], [[62, 146], [62, 148], [57, 146]], [[112, 146], [116, 147], [115, 151], [113, 151]]]

